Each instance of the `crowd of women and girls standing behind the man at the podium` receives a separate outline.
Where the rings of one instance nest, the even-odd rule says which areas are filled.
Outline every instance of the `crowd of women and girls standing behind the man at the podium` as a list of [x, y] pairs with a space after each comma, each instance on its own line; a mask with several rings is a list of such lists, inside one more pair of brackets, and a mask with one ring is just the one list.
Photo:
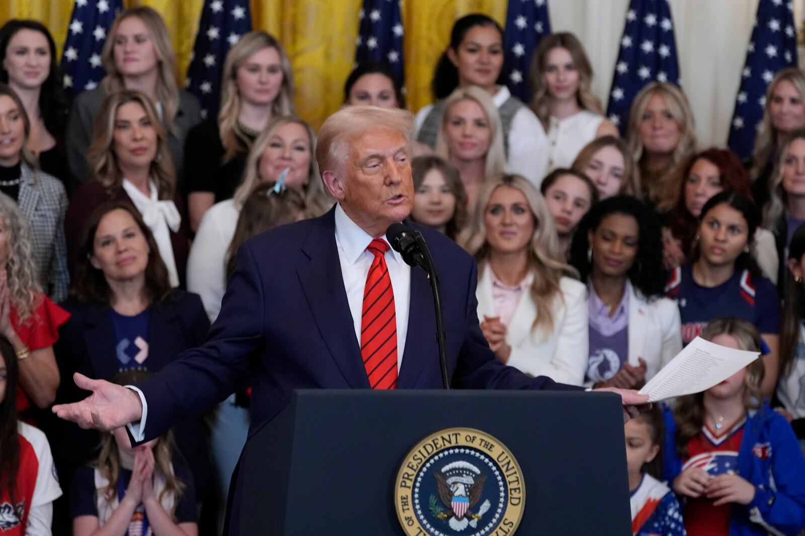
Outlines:
[[[118, 14], [101, 61], [101, 84], [71, 105], [47, 28], [0, 28], [2, 530], [215, 534], [248, 386], [134, 449], [125, 431], [98, 435], [46, 410], [82, 398], [72, 373], [126, 384], [200, 344], [237, 247], [333, 200], [274, 37], [253, 31], [230, 49], [208, 121], [176, 84], [154, 10]], [[633, 528], [803, 529], [805, 72], [770, 82], [745, 163], [697, 146], [687, 98], [667, 83], [638, 93], [621, 138], [572, 34], [539, 43], [533, 101], [513, 97], [504, 74], [502, 28], [458, 19], [409, 155], [411, 220], [477, 259], [490, 348], [524, 373], [622, 388], [696, 336], [761, 352], [740, 378], [667, 406], [665, 423], [657, 411], [627, 425]], [[380, 63], [357, 65], [344, 103], [406, 106]], [[704, 451], [747, 469], [708, 473], [691, 461]]]

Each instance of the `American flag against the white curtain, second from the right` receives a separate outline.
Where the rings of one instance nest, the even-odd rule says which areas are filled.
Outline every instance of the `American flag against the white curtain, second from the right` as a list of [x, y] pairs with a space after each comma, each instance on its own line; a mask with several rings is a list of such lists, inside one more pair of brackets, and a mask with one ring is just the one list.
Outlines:
[[630, 0], [607, 106], [609, 121], [621, 134], [625, 134], [634, 96], [654, 80], [682, 83], [671, 8], [668, 0]]

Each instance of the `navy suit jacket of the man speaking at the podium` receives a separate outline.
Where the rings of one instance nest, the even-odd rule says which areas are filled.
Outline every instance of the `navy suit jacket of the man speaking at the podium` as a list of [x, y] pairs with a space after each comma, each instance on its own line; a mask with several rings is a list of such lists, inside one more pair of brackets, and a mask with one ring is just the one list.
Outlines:
[[[145, 439], [220, 402], [247, 380], [251, 430], [295, 389], [369, 389], [335, 240], [335, 209], [246, 241], [207, 342], [138, 384]], [[455, 242], [420, 228], [441, 274], [448, 365], [457, 389], [578, 389], [497, 361], [478, 326], [477, 266]], [[435, 313], [423, 270], [411, 268], [408, 336], [398, 389], [441, 389]]]

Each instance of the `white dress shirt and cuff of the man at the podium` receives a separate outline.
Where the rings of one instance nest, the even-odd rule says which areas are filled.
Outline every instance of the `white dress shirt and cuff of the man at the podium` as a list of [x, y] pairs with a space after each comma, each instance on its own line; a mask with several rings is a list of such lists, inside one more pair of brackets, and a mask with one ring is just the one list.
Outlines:
[[[341, 275], [349, 302], [349, 312], [353, 317], [355, 339], [361, 346], [361, 311], [363, 311], [363, 291], [366, 287], [366, 276], [374, 261], [374, 254], [367, 251], [369, 243], [374, 240], [363, 229], [349, 219], [341, 204], [336, 204], [336, 246], [338, 260], [341, 263]], [[386, 241], [386, 237], [382, 237]], [[411, 305], [411, 266], [403, 261], [403, 256], [389, 249], [386, 251], [386, 266], [389, 268], [391, 288], [394, 291], [394, 315], [397, 320], [397, 370], [403, 362], [403, 351], [408, 334], [408, 311]], [[148, 404], [145, 395], [134, 386], [126, 386], [134, 390], [142, 402], [142, 418], [138, 423], [128, 425], [131, 435], [136, 441], [144, 437]]]

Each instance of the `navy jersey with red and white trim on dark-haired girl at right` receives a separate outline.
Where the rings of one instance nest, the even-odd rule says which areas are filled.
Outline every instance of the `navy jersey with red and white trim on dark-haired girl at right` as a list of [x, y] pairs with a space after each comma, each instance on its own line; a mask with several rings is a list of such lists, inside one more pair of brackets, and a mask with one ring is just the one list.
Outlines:
[[761, 333], [780, 331], [780, 299], [774, 284], [749, 270], [736, 270], [717, 287], [701, 287], [693, 280], [693, 266], [671, 271], [665, 287], [669, 298], [679, 306], [682, 344], [699, 336], [710, 320], [737, 316], [757, 326]]

